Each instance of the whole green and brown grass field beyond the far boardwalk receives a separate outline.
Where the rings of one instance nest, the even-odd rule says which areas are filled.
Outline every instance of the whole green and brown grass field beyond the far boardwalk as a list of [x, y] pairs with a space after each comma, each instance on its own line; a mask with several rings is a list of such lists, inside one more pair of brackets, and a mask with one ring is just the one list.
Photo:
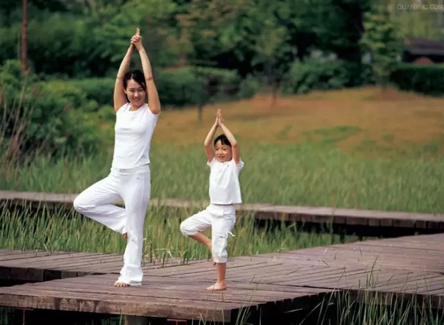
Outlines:
[[[202, 142], [221, 107], [246, 163], [245, 202], [444, 210], [442, 99], [365, 88], [270, 103], [258, 96], [207, 106], [201, 124], [194, 109], [165, 109], [151, 151], [152, 196], [207, 199]], [[106, 176], [110, 163], [110, 152], [103, 152], [55, 164], [42, 157], [26, 167], [2, 165], [0, 188], [80, 192]]]

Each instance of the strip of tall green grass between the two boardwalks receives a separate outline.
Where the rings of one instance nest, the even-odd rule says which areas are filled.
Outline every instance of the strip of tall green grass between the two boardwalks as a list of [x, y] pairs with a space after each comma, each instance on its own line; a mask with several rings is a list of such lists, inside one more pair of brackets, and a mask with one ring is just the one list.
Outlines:
[[[145, 219], [144, 256], [146, 262], [175, 257], [184, 260], [211, 258], [202, 244], [185, 238], [180, 233], [180, 222], [197, 210], [151, 208]], [[101, 226], [78, 213], [50, 212], [41, 210], [37, 215], [27, 211], [0, 210], [2, 226], [0, 247], [11, 249], [42, 249], [45, 251], [88, 251], [97, 253], [122, 253], [126, 241], [118, 233]], [[230, 256], [252, 256], [260, 253], [288, 251], [306, 247], [339, 244], [339, 235], [307, 233], [296, 226], [258, 228], [252, 217], [237, 219], [228, 241]], [[210, 231], [206, 232], [210, 235]], [[348, 236], [346, 241], [358, 240]]]

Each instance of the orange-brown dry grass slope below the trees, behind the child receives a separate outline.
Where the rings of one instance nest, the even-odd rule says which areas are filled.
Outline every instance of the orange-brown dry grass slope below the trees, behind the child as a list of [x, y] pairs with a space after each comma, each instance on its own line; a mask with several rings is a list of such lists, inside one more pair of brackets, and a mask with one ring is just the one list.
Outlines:
[[161, 143], [203, 142], [222, 108], [241, 143], [314, 142], [364, 157], [434, 156], [444, 149], [443, 99], [377, 88], [311, 92], [283, 97], [270, 107], [268, 96], [207, 106], [203, 124], [195, 110], [164, 111], [155, 139]]

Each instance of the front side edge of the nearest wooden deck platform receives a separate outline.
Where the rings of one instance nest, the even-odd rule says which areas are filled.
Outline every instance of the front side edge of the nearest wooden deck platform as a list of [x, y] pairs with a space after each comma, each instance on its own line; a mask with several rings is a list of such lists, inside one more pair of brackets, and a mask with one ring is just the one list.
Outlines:
[[[244, 314], [248, 313], [264, 313], [270, 306], [276, 308], [276, 304], [281, 305], [279, 310], [293, 310], [294, 306], [310, 310], [314, 308], [322, 299], [325, 299], [327, 294], [332, 294], [338, 290], [325, 288], [318, 292], [307, 292], [305, 295], [300, 295], [294, 292], [294, 298], [282, 298], [275, 300], [273, 298], [268, 302], [244, 303], [239, 307], [217, 306], [217, 302], [212, 302], [212, 307], [203, 307], [202, 303], [191, 305], [190, 303], [176, 305], [173, 303], [146, 303], [142, 301], [126, 301], [126, 294], [123, 294], [121, 299], [93, 299], [82, 297], [76, 292], [48, 292], [47, 294], [40, 292], [32, 292], [32, 290], [20, 290], [14, 292], [14, 288], [25, 288], [27, 284], [14, 285], [3, 292], [0, 291], [0, 306], [20, 309], [46, 309], [46, 310], [61, 310], [61, 311], [75, 311], [81, 313], [104, 313], [108, 315], [123, 315], [130, 321], [128, 324], [146, 324], [146, 318], [175, 318], [198, 320], [203, 322], [224, 322], [232, 323], [238, 317], [243, 318]], [[37, 285], [35, 288], [39, 288]], [[301, 287], [302, 288], [302, 287]], [[204, 303], [204, 302], [203, 302]], [[291, 306], [288, 305], [290, 303]], [[204, 303], [205, 304], [205, 303]], [[287, 306], [283, 306], [283, 305]], [[253, 310], [251, 310], [253, 308]], [[264, 308], [264, 309], [263, 309]], [[259, 310], [262, 310], [260, 312]]]

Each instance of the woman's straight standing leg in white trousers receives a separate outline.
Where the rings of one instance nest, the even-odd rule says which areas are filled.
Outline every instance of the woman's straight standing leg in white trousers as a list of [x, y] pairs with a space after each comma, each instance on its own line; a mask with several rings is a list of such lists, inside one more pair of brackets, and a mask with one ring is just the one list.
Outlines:
[[114, 285], [126, 287], [141, 285], [142, 253], [144, 244], [144, 220], [151, 195], [151, 174], [137, 172], [122, 186], [122, 197], [126, 206], [126, 233], [128, 242], [123, 254], [123, 267]]

